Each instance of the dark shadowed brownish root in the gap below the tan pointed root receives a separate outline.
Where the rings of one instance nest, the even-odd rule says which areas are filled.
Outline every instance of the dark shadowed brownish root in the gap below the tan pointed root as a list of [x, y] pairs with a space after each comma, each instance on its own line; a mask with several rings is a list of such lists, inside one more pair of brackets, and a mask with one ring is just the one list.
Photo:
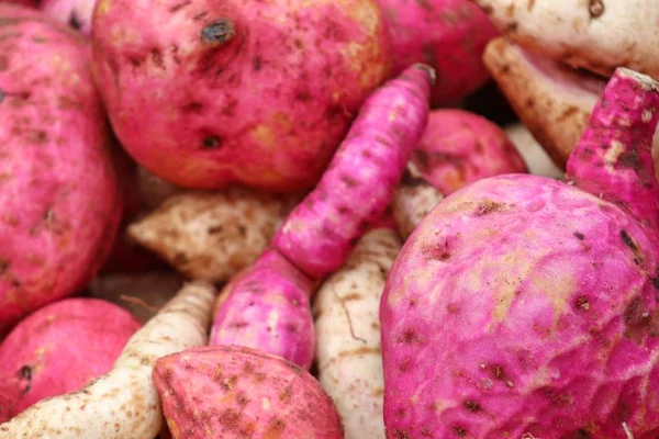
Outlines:
[[147, 271], [111, 273], [97, 277], [89, 285], [91, 297], [102, 299], [148, 322], [178, 293], [183, 279], [175, 272]]

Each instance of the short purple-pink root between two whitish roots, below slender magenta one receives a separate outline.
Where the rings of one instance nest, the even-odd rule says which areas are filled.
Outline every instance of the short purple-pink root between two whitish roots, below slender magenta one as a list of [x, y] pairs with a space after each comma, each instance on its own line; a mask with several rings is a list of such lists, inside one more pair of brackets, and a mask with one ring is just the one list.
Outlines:
[[210, 345], [246, 346], [306, 370], [311, 367], [315, 349], [311, 279], [268, 249], [227, 290], [215, 314]]

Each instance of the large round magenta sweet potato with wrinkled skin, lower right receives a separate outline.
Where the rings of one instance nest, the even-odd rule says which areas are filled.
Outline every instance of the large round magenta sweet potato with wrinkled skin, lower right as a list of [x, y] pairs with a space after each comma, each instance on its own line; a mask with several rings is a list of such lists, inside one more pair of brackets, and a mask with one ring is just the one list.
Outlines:
[[448, 196], [381, 302], [388, 437], [617, 438], [626, 423], [656, 438], [657, 248], [626, 212], [551, 179]]

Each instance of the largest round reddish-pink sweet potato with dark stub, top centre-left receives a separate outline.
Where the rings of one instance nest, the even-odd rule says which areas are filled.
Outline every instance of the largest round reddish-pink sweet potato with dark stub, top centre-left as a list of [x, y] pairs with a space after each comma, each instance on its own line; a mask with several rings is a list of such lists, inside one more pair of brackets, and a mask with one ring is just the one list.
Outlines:
[[121, 143], [181, 187], [311, 188], [391, 71], [372, 0], [109, 0], [93, 20]]

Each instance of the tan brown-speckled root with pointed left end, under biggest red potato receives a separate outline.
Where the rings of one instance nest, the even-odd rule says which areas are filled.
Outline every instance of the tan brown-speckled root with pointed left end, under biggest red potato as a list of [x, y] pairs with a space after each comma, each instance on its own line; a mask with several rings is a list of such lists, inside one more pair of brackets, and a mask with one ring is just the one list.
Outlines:
[[133, 223], [129, 234], [188, 278], [226, 282], [265, 250], [301, 196], [241, 188], [188, 192]]

